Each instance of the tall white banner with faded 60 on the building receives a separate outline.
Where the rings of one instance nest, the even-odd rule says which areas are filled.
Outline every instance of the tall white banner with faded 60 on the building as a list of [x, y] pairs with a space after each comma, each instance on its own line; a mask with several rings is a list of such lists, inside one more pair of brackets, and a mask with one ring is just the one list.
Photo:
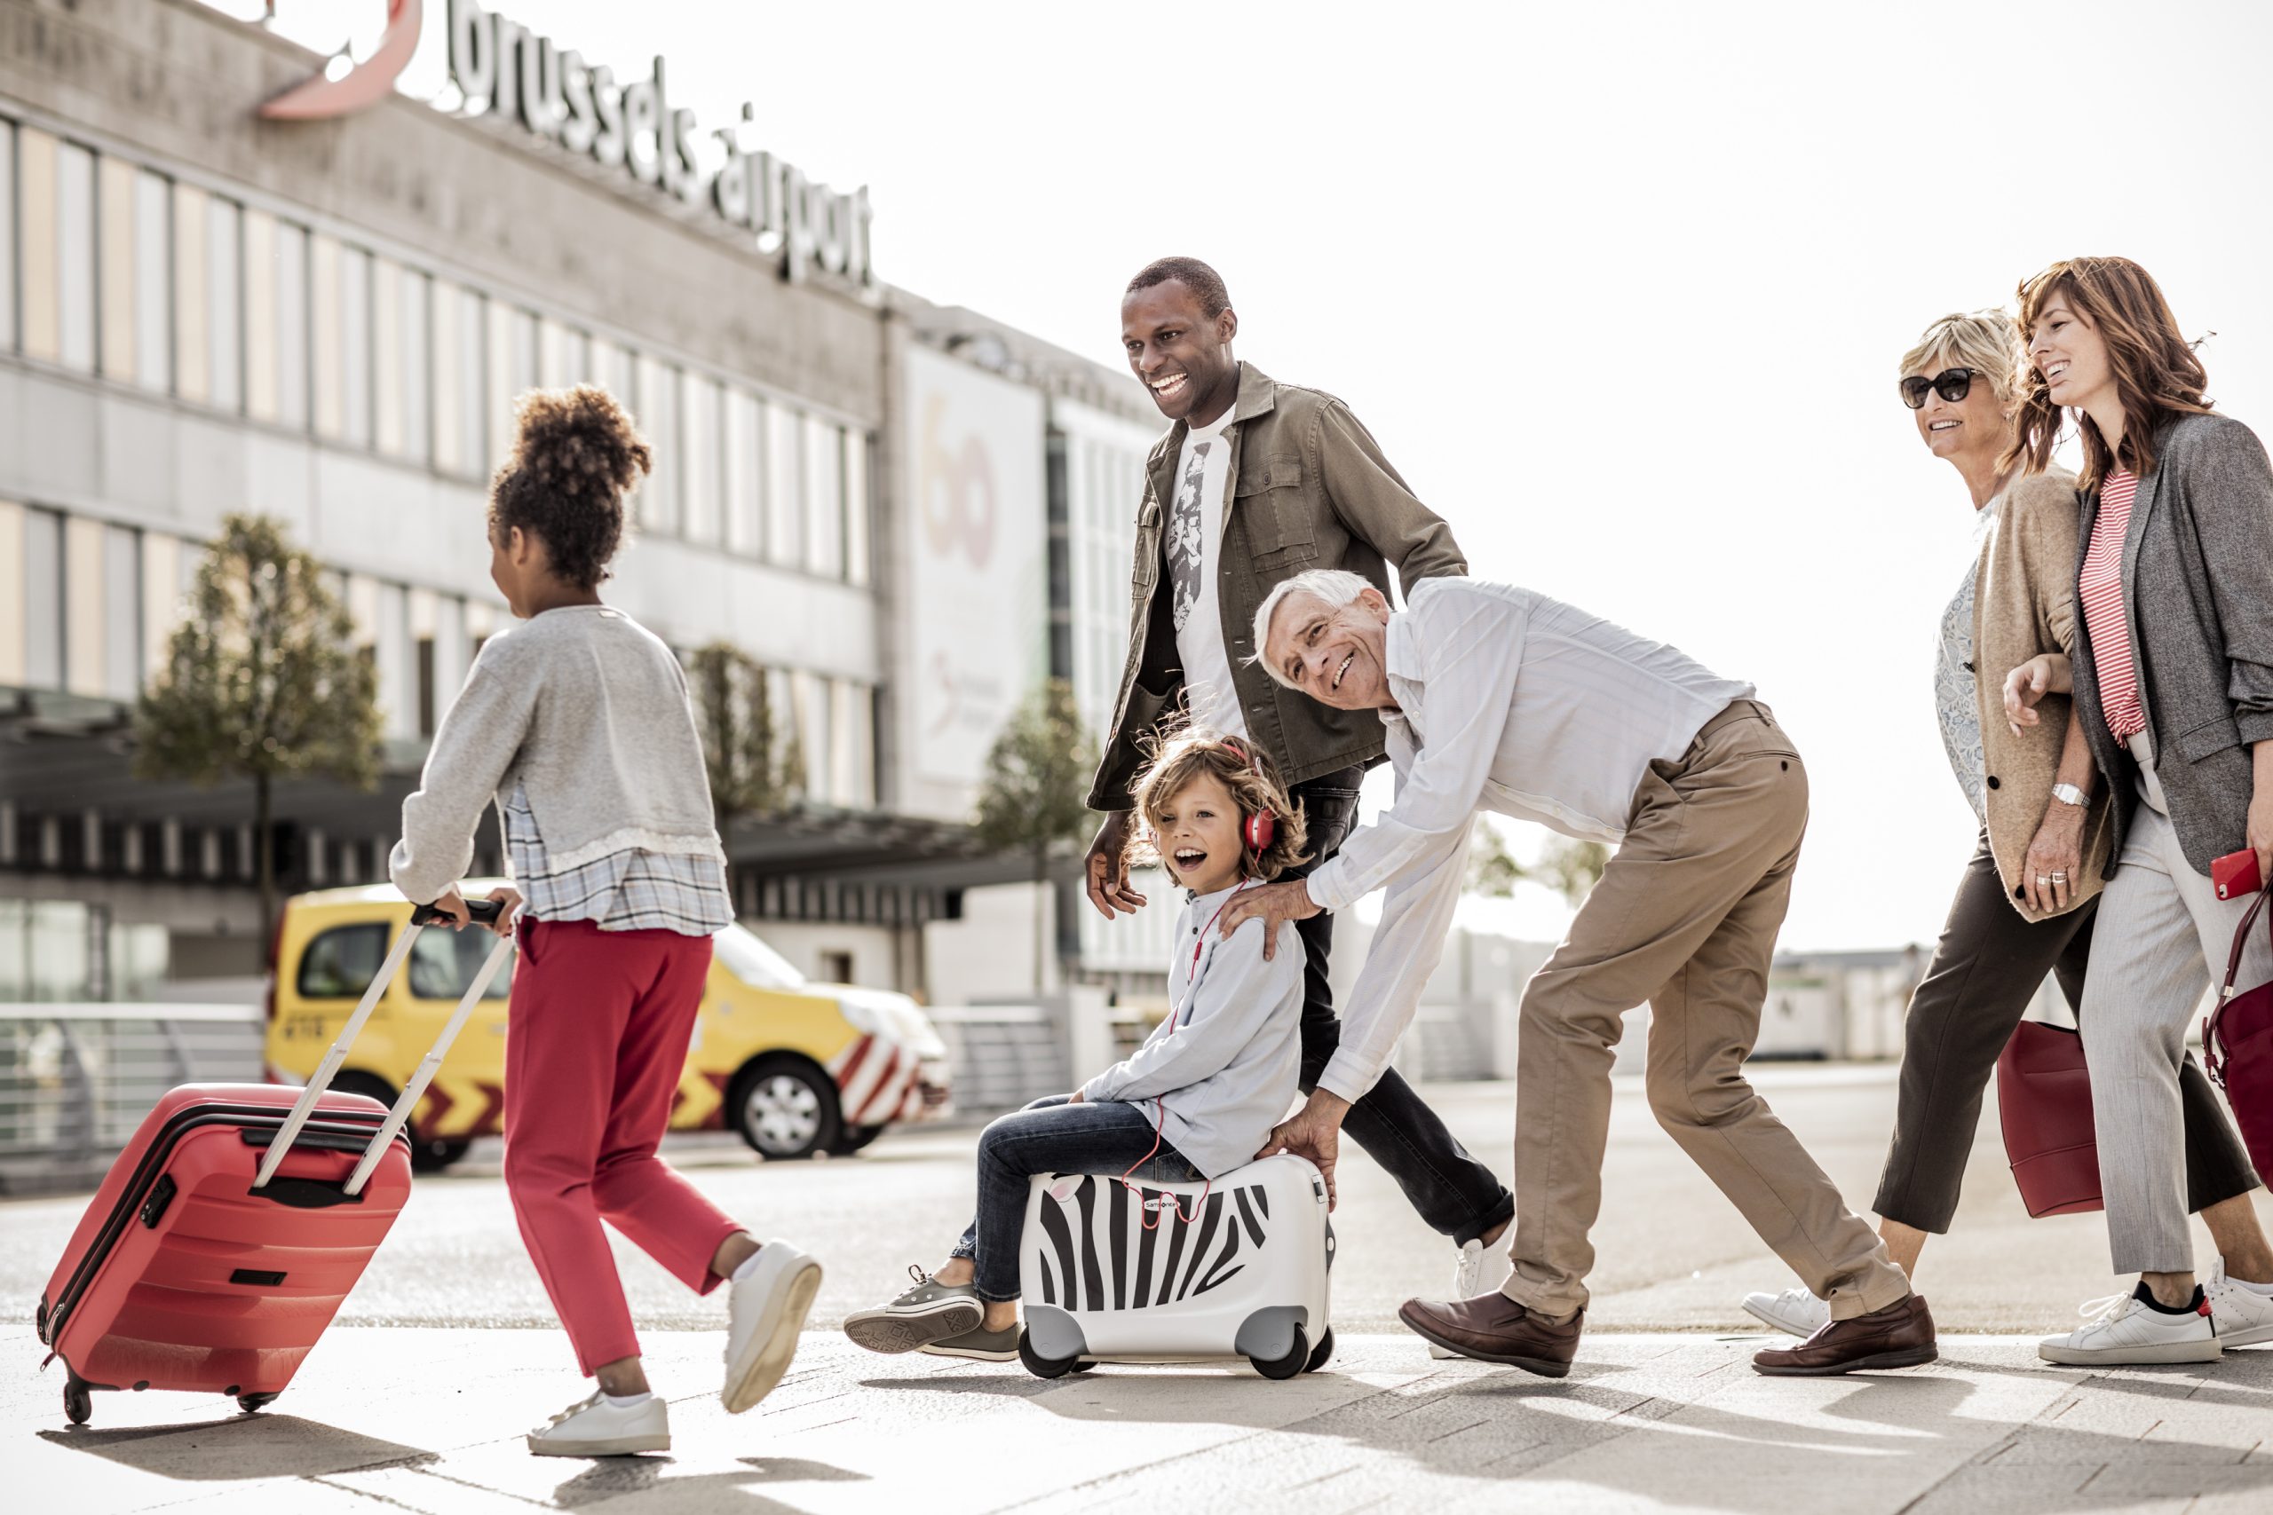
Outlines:
[[1048, 668], [1043, 397], [907, 348], [902, 761], [916, 809], [961, 820], [986, 750]]

